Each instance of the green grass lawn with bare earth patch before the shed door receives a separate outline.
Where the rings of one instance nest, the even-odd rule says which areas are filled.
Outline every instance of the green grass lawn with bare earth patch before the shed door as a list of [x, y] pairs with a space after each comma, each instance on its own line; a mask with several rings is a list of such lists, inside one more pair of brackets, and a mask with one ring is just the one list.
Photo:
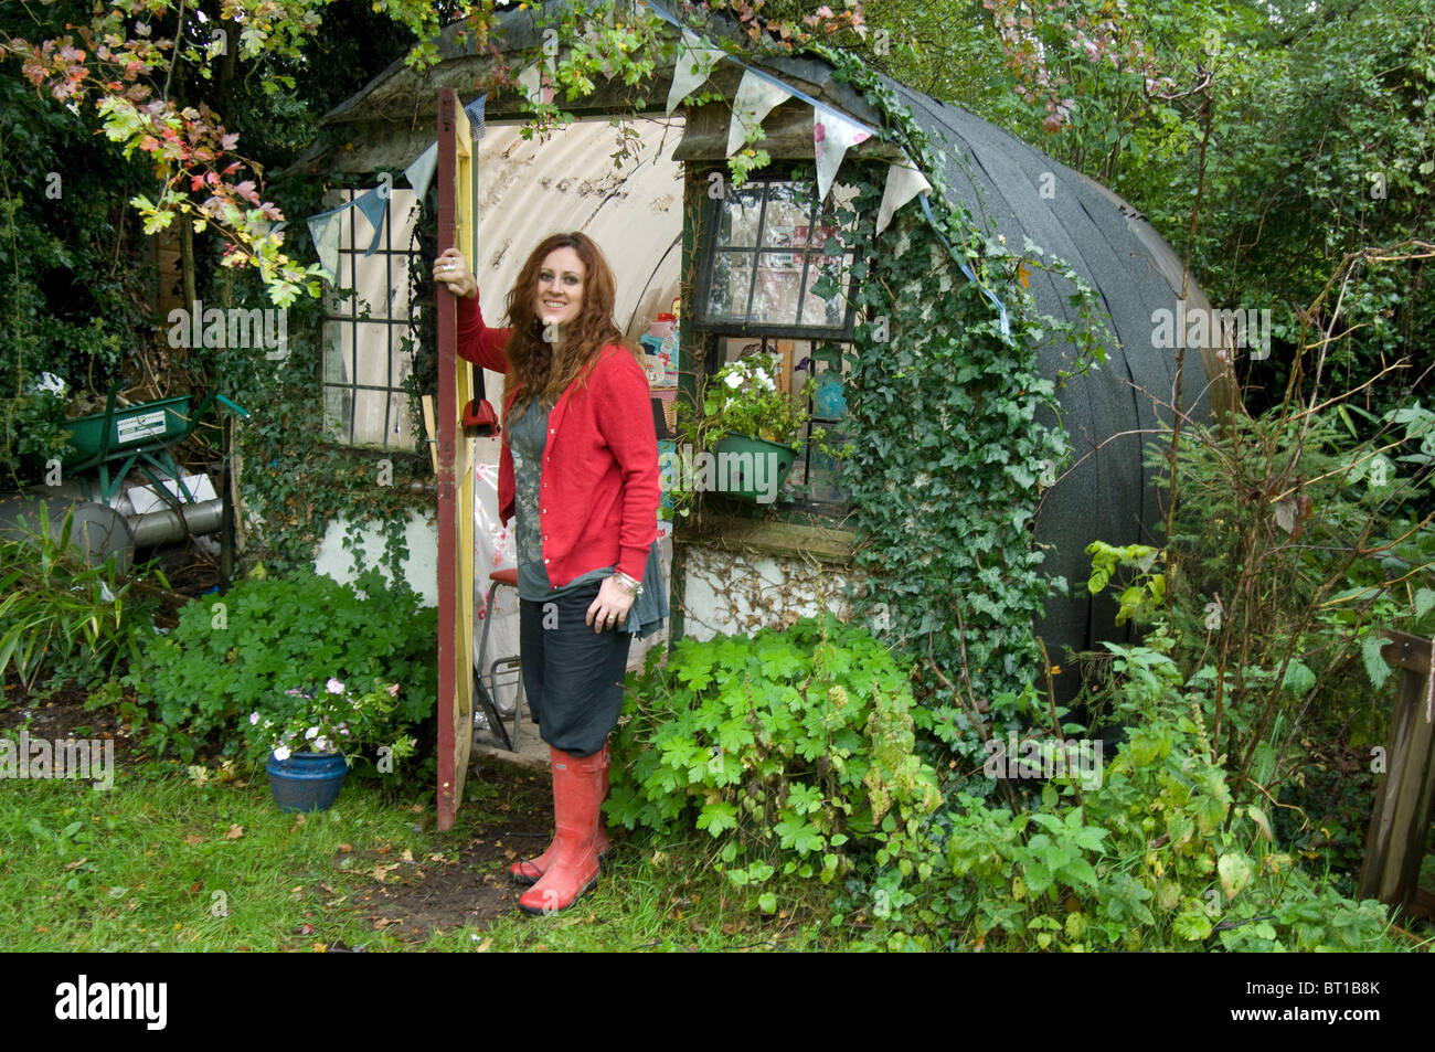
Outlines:
[[[154, 761], [113, 788], [0, 781], [6, 950], [839, 949], [829, 910], [763, 916], [693, 845], [620, 841], [598, 890], [524, 917], [509, 858], [547, 844], [547, 779], [486, 764], [459, 821], [350, 779], [331, 811], [281, 814], [263, 771]], [[818, 896], [821, 893], [817, 893]], [[785, 903], [789, 900], [784, 900]]]

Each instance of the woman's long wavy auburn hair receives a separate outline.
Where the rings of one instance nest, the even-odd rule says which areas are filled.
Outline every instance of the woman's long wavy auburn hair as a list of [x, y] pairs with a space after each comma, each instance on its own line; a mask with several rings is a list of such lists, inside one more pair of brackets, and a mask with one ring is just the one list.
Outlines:
[[[538, 271], [548, 254], [558, 248], [571, 248], [583, 260], [583, 306], [577, 319], [558, 329], [558, 340], [550, 343], [544, 323], [534, 311], [534, 299]], [[538, 243], [508, 293], [508, 324], [512, 334], [507, 347], [504, 403], [508, 403], [512, 392], [518, 392], [511, 410], [514, 415], [521, 413], [535, 398], [541, 405], [555, 405], [568, 385], [581, 380], [597, 360], [598, 352], [608, 344], [626, 347], [636, 357], [636, 352], [623, 343], [623, 333], [613, 320], [616, 299], [613, 270], [591, 237], [574, 231], [551, 234]]]

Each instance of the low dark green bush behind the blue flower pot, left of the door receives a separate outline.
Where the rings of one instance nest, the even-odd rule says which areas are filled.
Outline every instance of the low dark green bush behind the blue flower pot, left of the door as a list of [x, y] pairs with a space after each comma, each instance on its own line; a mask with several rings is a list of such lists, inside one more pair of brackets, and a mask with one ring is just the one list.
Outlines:
[[[379, 571], [353, 587], [311, 571], [251, 577], [179, 611], [126, 683], [154, 706], [149, 743], [189, 759], [218, 733], [222, 755], [247, 745], [241, 725], [303, 683], [399, 683], [409, 725], [435, 712], [438, 616]], [[290, 699], [293, 700], [293, 699]]]

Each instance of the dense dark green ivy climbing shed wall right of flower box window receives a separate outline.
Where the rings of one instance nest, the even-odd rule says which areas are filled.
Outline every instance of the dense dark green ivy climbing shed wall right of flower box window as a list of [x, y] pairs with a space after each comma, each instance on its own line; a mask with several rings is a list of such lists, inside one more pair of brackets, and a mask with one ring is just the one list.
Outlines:
[[[1035, 245], [1013, 253], [946, 204], [941, 165], [890, 89], [852, 56], [825, 57], [887, 115], [893, 138], [933, 182], [937, 220], [934, 228], [911, 205], [878, 235], [885, 168], [858, 175], [850, 241], [861, 250], [854, 290], [862, 320], [844, 484], [865, 537], [858, 563], [875, 576], [864, 603], [872, 626], [918, 667], [927, 695], [918, 723], [959, 768], [980, 766], [980, 725], [1004, 733], [1032, 722], [1022, 708], [1046, 675], [1033, 626], [1050, 591], [1065, 588], [1043, 571], [1033, 540], [1042, 491], [1071, 452], [1056, 400], [1062, 377], [1043, 376], [1039, 350], [1069, 344], [1066, 375], [1079, 372], [1104, 357], [1104, 330], [1095, 293], [1075, 271]], [[977, 283], [961, 274], [961, 258]], [[1078, 321], [1036, 310], [1023, 278], [1038, 267], [1071, 283]], [[1006, 304], [1009, 336], [983, 287]]]

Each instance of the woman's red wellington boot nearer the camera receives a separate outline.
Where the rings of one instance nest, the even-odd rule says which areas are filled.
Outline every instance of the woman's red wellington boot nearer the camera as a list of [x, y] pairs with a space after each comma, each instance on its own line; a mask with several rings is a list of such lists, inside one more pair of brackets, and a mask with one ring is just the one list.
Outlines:
[[558, 913], [598, 881], [598, 825], [608, 789], [603, 752], [571, 756], [552, 749], [552, 808], [557, 832], [542, 878], [518, 897], [524, 913]]

